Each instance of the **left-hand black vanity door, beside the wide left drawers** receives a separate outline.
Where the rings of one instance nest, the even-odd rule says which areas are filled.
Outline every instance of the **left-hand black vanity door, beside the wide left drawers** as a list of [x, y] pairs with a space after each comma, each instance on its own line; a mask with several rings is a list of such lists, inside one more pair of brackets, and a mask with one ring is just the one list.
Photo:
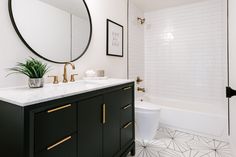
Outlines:
[[79, 157], [102, 157], [102, 104], [102, 96], [78, 102]]

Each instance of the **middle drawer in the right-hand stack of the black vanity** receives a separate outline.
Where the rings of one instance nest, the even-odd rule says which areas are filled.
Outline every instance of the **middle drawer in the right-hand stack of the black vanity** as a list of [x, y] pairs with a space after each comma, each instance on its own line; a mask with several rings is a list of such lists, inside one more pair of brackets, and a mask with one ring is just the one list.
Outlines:
[[133, 121], [133, 110], [133, 104], [129, 104], [121, 108], [121, 126]]

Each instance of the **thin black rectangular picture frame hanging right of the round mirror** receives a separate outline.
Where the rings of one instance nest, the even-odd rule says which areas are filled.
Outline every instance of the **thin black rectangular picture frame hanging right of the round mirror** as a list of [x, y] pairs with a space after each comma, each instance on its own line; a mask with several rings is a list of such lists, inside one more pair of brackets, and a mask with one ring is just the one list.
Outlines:
[[[111, 42], [111, 39], [109, 39], [109, 33], [110, 33], [110, 29], [109, 29], [109, 25], [110, 24], [113, 24], [113, 25], [115, 25], [115, 26], [117, 26], [117, 27], [120, 27], [121, 28], [121, 35], [122, 35], [122, 37], [121, 37], [121, 44], [122, 44], [122, 46], [121, 46], [121, 52], [120, 52], [120, 54], [115, 54], [114, 52], [112, 53], [112, 52], [110, 52], [110, 47], [109, 47], [109, 43]], [[108, 56], [115, 56], [115, 57], [124, 57], [124, 27], [121, 25], [121, 24], [118, 24], [118, 23], [116, 23], [116, 22], [114, 22], [114, 21], [112, 21], [112, 20], [110, 20], [110, 19], [107, 19], [107, 41], [106, 41], [106, 54], [108, 55]]]

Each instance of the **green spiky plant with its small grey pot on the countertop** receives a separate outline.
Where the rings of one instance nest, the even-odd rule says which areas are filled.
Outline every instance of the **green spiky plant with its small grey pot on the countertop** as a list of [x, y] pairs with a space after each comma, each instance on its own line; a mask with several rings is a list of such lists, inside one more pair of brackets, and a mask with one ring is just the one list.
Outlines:
[[9, 70], [12, 71], [10, 74], [19, 73], [28, 76], [28, 85], [30, 88], [40, 88], [44, 85], [43, 76], [49, 71], [49, 67], [47, 64], [31, 57], [27, 59], [25, 63], [19, 62], [15, 67]]

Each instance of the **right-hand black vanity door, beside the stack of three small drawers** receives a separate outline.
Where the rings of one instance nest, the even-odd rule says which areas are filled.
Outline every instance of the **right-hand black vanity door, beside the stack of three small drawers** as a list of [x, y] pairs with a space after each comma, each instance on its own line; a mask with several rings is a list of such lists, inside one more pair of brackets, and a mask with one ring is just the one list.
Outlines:
[[113, 157], [120, 150], [120, 104], [122, 90], [104, 95], [103, 157]]

